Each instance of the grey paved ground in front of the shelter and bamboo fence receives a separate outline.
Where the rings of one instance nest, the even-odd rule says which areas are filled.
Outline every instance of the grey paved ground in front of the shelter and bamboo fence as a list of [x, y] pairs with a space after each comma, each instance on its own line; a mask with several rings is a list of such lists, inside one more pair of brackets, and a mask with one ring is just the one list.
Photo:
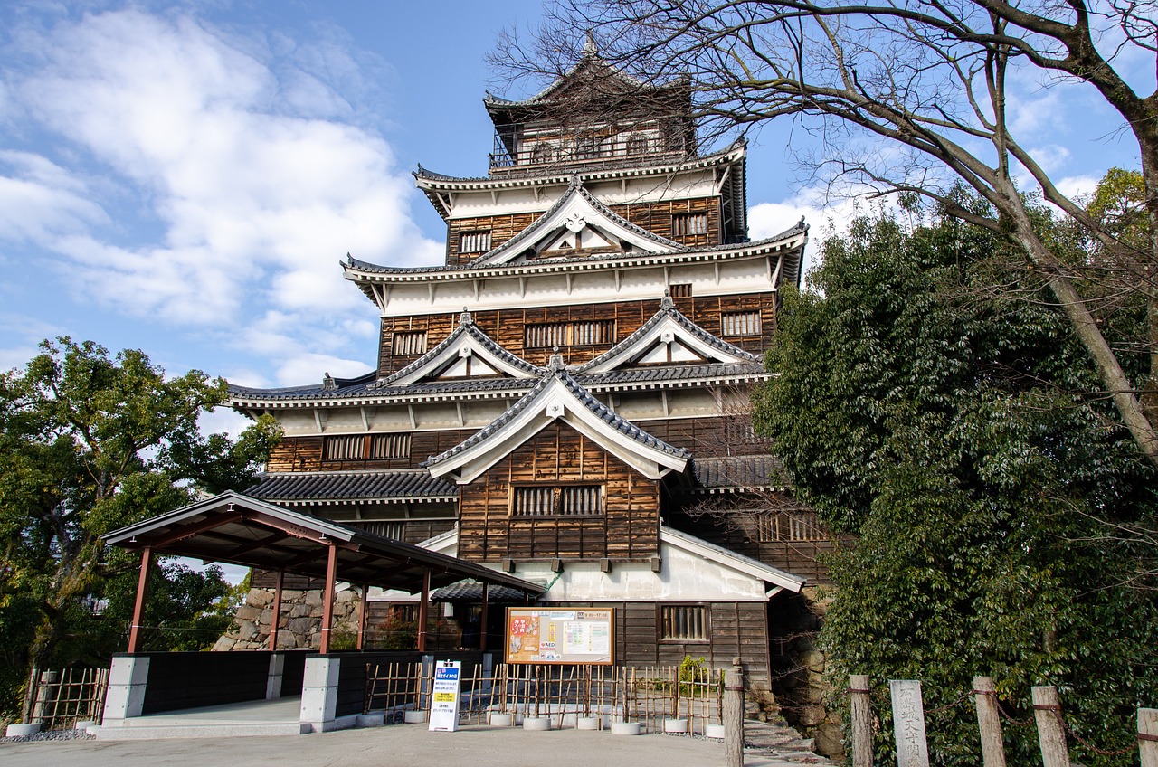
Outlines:
[[[811, 761], [811, 760], [808, 760]], [[174, 740], [0, 744], [5, 767], [721, 767], [724, 745], [681, 736], [467, 726], [457, 732], [391, 725], [321, 735]], [[746, 767], [782, 767], [763, 750]]]

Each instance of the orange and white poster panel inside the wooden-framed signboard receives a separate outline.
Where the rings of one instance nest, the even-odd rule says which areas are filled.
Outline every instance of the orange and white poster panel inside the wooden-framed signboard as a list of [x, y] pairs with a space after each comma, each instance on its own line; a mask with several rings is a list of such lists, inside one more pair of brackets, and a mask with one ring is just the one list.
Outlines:
[[507, 663], [615, 662], [615, 609], [508, 607]]

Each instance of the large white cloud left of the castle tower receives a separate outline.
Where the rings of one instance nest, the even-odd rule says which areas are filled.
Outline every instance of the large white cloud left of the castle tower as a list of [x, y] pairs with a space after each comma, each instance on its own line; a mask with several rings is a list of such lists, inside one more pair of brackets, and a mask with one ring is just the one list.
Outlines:
[[[362, 324], [373, 308], [338, 266], [345, 253], [396, 265], [441, 257], [410, 218], [409, 174], [356, 124], [342, 88], [368, 86], [345, 41], [271, 44], [135, 9], [14, 37], [24, 60], [2, 73], [3, 112], [66, 144], [51, 160], [0, 152], [0, 171], [12, 169], [0, 176], [0, 239], [63, 257], [86, 300], [220, 333], [262, 357], [293, 355], [283, 367], [294, 372], [313, 359], [312, 380], [323, 363], [347, 372], [334, 352], [351, 327], [373, 337]], [[285, 319], [263, 345], [270, 329], [250, 317], [272, 314]], [[357, 351], [372, 357], [373, 343]]]

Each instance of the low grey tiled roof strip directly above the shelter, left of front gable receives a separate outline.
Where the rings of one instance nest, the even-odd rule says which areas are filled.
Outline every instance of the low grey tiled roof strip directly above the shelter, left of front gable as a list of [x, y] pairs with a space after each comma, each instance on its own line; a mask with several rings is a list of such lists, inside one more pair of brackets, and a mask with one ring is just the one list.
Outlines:
[[424, 469], [264, 474], [245, 495], [291, 501], [449, 501], [459, 489]]

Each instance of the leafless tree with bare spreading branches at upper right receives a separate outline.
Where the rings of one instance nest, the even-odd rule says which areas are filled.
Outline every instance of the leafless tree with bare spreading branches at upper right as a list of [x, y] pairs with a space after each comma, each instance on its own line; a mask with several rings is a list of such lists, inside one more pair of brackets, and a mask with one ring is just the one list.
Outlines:
[[[505, 34], [492, 58], [514, 76], [557, 75], [589, 53], [593, 35], [603, 59], [640, 80], [690, 76], [709, 140], [794, 116], [828, 147], [809, 161], [830, 183], [921, 195], [1009, 234], [1089, 351], [1100, 394], [1158, 465], [1158, 90], [1150, 74], [1131, 82], [1123, 64], [1158, 64], [1156, 20], [1155, 0], [559, 0], [529, 42]], [[1133, 136], [1141, 154], [1145, 236], [1120, 236], [1063, 193], [1014, 134], [1012, 86], [1027, 72], [1092, 89], [1116, 111], [1109, 130]], [[891, 148], [858, 153], [849, 140], [858, 134]], [[1035, 226], [1019, 176], [1085, 231], [1121, 290], [1145, 304], [1145, 337], [1133, 348], [1107, 339], [1082, 275]], [[958, 204], [961, 183], [992, 214]], [[1130, 353], [1145, 355], [1137, 380]]]

